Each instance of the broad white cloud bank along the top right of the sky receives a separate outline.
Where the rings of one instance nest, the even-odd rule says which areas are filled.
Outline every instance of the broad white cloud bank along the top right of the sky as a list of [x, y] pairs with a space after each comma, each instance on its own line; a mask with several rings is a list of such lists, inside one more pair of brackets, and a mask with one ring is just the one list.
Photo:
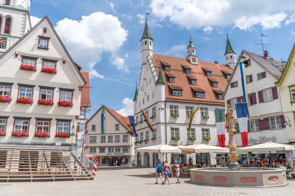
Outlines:
[[[244, 30], [253, 30], [254, 25], [261, 25], [263, 29], [279, 28], [287, 13], [295, 11], [292, 0], [268, 0], [267, 3], [255, 0], [152, 0], [150, 7], [154, 16], [161, 20], [168, 18], [186, 29], [228, 25]], [[293, 18], [286, 23], [292, 22]]]

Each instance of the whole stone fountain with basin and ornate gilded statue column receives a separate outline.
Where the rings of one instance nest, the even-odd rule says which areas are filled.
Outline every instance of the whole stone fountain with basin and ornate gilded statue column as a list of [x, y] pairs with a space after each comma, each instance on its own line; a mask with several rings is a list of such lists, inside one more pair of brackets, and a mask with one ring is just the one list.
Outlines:
[[286, 170], [277, 168], [240, 167], [234, 133], [235, 118], [227, 105], [227, 133], [229, 134], [228, 167], [190, 169], [191, 182], [200, 185], [224, 187], [275, 187], [286, 186]]

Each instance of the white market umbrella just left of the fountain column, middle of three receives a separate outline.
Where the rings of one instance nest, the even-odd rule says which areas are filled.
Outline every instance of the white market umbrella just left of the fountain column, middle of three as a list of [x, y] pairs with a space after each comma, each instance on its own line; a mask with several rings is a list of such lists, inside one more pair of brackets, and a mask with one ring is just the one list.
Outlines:
[[194, 144], [188, 146], [178, 146], [182, 153], [191, 154], [191, 153], [228, 153], [230, 149], [221, 148], [219, 146], [212, 146], [207, 144]]

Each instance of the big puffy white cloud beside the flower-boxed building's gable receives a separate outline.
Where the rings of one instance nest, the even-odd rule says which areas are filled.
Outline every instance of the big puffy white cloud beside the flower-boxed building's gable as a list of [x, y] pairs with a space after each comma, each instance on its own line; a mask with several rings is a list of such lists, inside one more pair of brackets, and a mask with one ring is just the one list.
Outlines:
[[[69, 29], [75, 30], [69, 33]], [[88, 71], [91, 78], [103, 78], [94, 65], [103, 52], [118, 51], [128, 36], [117, 17], [103, 12], [82, 16], [79, 21], [65, 18], [57, 22], [55, 30], [81, 71]]]

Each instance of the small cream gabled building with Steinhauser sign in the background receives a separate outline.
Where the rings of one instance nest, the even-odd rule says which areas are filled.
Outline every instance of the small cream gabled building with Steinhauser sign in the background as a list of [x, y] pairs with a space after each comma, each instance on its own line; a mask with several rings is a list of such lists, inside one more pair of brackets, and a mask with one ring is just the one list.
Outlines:
[[[101, 118], [104, 118], [102, 132]], [[100, 165], [126, 165], [134, 157], [134, 132], [128, 117], [102, 105], [86, 123], [87, 136], [84, 152], [97, 157]]]

